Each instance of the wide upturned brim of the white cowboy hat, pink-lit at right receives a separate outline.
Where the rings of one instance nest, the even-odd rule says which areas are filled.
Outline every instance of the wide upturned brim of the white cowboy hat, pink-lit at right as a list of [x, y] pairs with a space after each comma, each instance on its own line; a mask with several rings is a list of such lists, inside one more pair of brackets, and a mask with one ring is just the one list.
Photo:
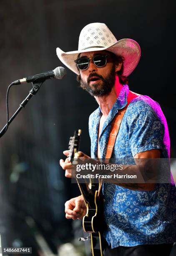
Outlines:
[[128, 77], [129, 74], [133, 72], [133, 70], [136, 68], [140, 56], [141, 56], [141, 49], [140, 46], [136, 41], [130, 38], [124, 38], [119, 41], [117, 41], [112, 46], [108, 47], [92, 47], [88, 49], [84, 49], [81, 51], [68, 51], [64, 52], [60, 48], [56, 49], [56, 53], [58, 55], [58, 58], [62, 63], [68, 67], [71, 71], [73, 71], [76, 74], [80, 74], [76, 63], [74, 62], [75, 59], [77, 59], [78, 54], [88, 51], [111, 51], [113, 54], [116, 54], [117, 56], [123, 56], [124, 62], [123, 62], [123, 75]]

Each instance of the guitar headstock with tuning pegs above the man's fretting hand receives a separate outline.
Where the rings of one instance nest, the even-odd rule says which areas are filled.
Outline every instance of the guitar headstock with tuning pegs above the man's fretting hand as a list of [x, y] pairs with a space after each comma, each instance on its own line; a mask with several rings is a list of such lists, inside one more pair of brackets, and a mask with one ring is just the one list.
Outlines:
[[78, 153], [78, 151], [79, 151], [80, 134], [81, 134], [81, 130], [79, 129], [74, 132], [73, 137], [70, 137], [70, 141], [68, 143], [68, 145], [69, 145], [68, 158], [70, 161], [71, 161], [71, 159], [77, 158], [76, 153]]

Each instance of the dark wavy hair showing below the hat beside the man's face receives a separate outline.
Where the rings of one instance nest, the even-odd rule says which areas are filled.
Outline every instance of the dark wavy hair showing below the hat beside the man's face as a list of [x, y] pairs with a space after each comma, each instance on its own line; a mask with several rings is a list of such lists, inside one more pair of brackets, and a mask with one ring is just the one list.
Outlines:
[[[108, 53], [111, 55], [114, 64], [122, 63], [121, 69], [116, 72], [116, 74], [117, 74], [118, 77], [119, 77], [119, 82], [120, 82], [120, 84], [128, 84], [128, 78], [123, 75], [123, 61], [124, 61], [124, 57], [123, 57], [123, 56], [117, 56], [117, 55], [113, 54], [113, 53], [110, 52], [110, 51], [108, 51]], [[79, 55], [80, 55], [80, 54], [79, 54]], [[79, 57], [79, 55], [78, 55], [78, 57]], [[78, 67], [77, 67], [77, 68], [78, 68]], [[78, 69], [78, 70], [79, 70], [79, 69]], [[76, 79], [77, 79], [78, 82], [80, 82], [80, 80], [81, 80], [80, 75], [77, 75]]]

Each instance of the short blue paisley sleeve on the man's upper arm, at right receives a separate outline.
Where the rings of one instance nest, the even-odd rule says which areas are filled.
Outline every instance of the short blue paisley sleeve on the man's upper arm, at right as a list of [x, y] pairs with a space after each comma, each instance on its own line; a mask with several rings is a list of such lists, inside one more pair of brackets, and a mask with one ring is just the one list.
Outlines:
[[151, 106], [138, 100], [129, 104], [128, 139], [133, 156], [151, 150], [163, 150], [164, 125]]

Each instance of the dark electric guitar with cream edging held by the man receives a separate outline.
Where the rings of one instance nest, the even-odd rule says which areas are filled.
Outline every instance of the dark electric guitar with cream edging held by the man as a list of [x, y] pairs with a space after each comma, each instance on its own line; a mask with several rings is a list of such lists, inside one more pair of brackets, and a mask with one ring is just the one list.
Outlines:
[[[78, 150], [80, 143], [81, 130], [77, 130], [69, 141], [69, 160], [73, 163], [78, 159]], [[88, 238], [79, 238], [80, 241], [91, 240], [92, 256], [103, 256], [103, 240], [101, 232], [105, 227], [103, 220], [103, 202], [100, 197], [100, 190], [102, 182], [99, 179], [98, 183], [93, 183], [90, 179], [88, 183], [80, 183], [76, 178], [80, 192], [83, 196], [85, 205], [87, 207], [86, 215], [83, 217], [83, 230], [89, 233]]]

